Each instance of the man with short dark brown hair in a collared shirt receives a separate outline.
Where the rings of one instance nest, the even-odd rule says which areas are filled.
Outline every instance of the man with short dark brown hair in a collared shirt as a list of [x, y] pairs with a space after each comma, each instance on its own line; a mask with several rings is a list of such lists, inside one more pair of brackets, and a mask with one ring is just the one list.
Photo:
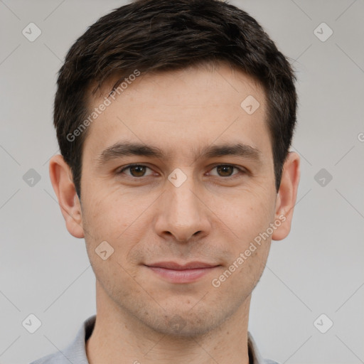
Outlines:
[[275, 363], [247, 331], [299, 184], [294, 74], [218, 0], [139, 0], [93, 24], [58, 77], [50, 179], [85, 238], [97, 315], [41, 363]]

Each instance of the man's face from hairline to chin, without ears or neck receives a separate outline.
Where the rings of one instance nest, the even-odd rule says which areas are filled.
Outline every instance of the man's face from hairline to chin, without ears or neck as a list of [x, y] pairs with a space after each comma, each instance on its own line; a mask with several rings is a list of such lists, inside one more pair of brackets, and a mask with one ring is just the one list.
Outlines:
[[82, 156], [98, 295], [161, 333], [206, 333], [250, 299], [277, 220], [264, 93], [220, 65], [141, 75], [110, 100]]

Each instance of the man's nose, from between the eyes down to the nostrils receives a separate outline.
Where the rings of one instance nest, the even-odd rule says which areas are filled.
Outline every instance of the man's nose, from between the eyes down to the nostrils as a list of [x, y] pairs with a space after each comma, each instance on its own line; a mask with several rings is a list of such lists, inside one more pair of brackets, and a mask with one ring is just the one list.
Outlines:
[[193, 176], [187, 176], [181, 186], [166, 181], [166, 190], [159, 199], [155, 220], [156, 233], [177, 242], [189, 242], [204, 237], [211, 229], [206, 201], [203, 200]]

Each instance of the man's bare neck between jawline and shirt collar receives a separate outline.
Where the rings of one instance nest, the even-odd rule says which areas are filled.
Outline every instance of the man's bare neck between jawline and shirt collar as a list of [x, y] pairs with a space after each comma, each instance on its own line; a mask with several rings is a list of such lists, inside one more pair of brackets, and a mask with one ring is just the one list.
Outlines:
[[128, 314], [97, 287], [97, 319], [86, 343], [90, 364], [248, 364], [250, 296], [223, 325], [200, 336], [168, 336]]

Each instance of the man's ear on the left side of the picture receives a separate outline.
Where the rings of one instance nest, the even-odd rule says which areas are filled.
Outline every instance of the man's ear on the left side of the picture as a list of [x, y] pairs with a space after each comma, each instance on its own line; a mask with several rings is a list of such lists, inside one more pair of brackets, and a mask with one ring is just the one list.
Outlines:
[[74, 237], [85, 237], [82, 228], [81, 205], [73, 183], [72, 172], [60, 154], [50, 159], [49, 176], [63, 218], [65, 218], [67, 230]]

